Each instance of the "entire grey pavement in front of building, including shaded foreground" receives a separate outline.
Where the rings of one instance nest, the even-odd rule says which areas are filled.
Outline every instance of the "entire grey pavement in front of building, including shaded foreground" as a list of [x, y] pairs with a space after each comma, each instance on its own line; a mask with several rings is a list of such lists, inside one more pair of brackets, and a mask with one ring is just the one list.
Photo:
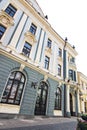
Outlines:
[[76, 130], [77, 118], [0, 119], [0, 130]]

